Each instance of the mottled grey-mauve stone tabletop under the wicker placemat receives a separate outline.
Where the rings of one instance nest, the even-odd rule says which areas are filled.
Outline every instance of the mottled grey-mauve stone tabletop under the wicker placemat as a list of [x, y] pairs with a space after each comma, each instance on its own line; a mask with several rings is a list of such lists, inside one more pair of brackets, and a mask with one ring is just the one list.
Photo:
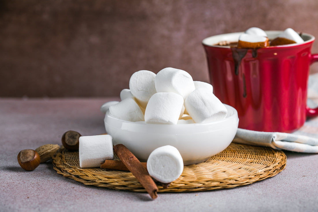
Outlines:
[[0, 211], [318, 210], [318, 154], [284, 151], [287, 165], [274, 177], [231, 189], [159, 193], [155, 200], [65, 178], [51, 160], [31, 172], [19, 166], [21, 150], [61, 145], [65, 131], [105, 133], [99, 109], [111, 100], [117, 98], [0, 98]]

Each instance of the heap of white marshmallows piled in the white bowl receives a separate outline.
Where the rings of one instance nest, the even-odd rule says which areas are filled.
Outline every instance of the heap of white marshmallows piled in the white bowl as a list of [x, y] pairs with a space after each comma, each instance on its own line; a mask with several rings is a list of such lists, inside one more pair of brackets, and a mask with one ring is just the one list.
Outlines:
[[227, 115], [211, 84], [193, 81], [188, 72], [171, 67], [157, 74], [135, 72], [129, 89], [123, 89], [120, 97], [120, 102], [107, 102], [100, 110], [109, 110], [122, 120], [146, 124], [208, 123]]

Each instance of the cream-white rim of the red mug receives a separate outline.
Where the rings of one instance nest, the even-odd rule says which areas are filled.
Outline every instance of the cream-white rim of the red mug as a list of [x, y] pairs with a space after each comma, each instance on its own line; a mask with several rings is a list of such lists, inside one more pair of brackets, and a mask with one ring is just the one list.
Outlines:
[[[268, 38], [269, 39], [273, 39], [275, 38], [275, 36], [273, 35], [279, 35], [280, 33], [284, 32], [284, 31], [276, 31], [276, 30], [269, 30], [269, 31], [265, 31]], [[244, 32], [231, 32], [231, 33], [225, 33], [225, 34], [219, 34], [219, 35], [213, 35], [213, 36], [210, 36], [210, 37], [207, 37], [205, 39], [202, 40], [202, 44], [204, 46], [210, 46], [210, 47], [217, 47], [217, 48], [231, 48], [230, 46], [219, 46], [219, 45], [215, 45], [217, 44], [218, 42], [220, 41], [223, 41], [223, 40], [229, 40], [231, 42], [237, 42], [238, 39], [239, 39], [239, 35], [241, 35], [242, 33]], [[299, 33], [299, 32], [297, 32]], [[289, 47], [289, 46], [299, 46], [299, 45], [302, 45], [302, 44], [307, 44], [307, 43], [310, 43], [310, 42], [313, 42], [315, 40], [315, 36], [311, 35], [311, 34], [308, 34], [308, 33], [305, 33], [305, 32], [301, 32], [301, 36], [302, 37], [308, 37], [309, 39], [307, 39], [305, 42], [303, 43], [294, 43], [294, 44], [287, 44], [287, 45], [280, 45], [280, 46], [268, 46], [266, 47], [267, 48], [282, 48], [282, 47]], [[230, 40], [230, 37], [232, 37], [232, 39]], [[234, 37], [234, 39], [233, 39]], [[223, 38], [223, 39], [222, 39]], [[228, 39], [226, 39], [228, 38]], [[212, 39], [218, 39], [217, 42], [213, 42], [214, 44], [211, 45], [211, 40]]]

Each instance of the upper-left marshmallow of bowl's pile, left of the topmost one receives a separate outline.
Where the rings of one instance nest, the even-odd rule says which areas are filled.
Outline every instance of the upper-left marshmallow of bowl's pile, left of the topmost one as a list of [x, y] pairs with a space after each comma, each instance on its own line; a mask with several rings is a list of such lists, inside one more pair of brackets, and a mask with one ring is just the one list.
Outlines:
[[146, 108], [150, 97], [156, 93], [155, 77], [155, 73], [147, 70], [137, 71], [130, 77], [130, 92], [144, 108]]

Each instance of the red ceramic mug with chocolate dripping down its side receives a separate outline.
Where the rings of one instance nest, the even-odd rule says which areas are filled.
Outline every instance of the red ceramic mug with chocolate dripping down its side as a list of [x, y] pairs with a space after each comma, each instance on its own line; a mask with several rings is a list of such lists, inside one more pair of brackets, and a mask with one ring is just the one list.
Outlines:
[[[238, 111], [239, 128], [292, 132], [317, 116], [318, 109], [307, 106], [309, 66], [318, 61], [311, 53], [315, 37], [302, 33], [302, 44], [249, 50], [216, 45], [238, 41], [241, 33], [203, 40], [213, 92]], [[281, 31], [266, 33], [273, 39]]]

